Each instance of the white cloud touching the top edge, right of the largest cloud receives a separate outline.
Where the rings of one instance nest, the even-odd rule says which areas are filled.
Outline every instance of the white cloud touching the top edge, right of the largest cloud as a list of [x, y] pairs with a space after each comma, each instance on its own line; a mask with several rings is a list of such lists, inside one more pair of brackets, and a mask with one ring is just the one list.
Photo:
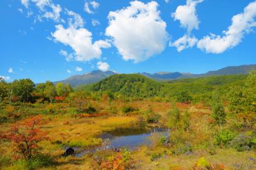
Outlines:
[[204, 0], [187, 0], [185, 5], [177, 7], [176, 11], [172, 13], [174, 20], [179, 20], [180, 25], [186, 28], [189, 32], [193, 29], [198, 29], [200, 21], [196, 15], [196, 5], [202, 3]]

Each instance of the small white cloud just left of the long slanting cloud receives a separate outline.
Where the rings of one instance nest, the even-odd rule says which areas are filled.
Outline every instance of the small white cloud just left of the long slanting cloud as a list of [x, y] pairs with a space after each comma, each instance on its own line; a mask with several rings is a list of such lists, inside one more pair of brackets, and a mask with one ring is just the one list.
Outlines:
[[184, 35], [175, 42], [170, 42], [169, 46], [176, 47], [177, 50], [180, 52], [184, 49], [188, 49], [189, 47], [193, 47], [197, 41], [198, 40], [195, 38], [195, 36]]

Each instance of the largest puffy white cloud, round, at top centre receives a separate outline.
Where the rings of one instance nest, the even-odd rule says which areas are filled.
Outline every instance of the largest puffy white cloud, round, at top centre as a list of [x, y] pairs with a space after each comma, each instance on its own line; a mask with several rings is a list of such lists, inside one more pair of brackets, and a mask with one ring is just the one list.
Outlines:
[[138, 63], [163, 52], [168, 33], [166, 22], [159, 17], [156, 1], [147, 4], [132, 1], [130, 4], [122, 10], [109, 12], [106, 35], [113, 38], [125, 61], [131, 59]]

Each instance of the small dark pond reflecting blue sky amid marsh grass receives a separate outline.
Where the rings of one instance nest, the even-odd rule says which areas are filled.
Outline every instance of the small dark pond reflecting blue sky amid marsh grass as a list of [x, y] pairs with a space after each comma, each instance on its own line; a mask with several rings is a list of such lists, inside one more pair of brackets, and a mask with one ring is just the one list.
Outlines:
[[168, 137], [170, 130], [163, 127], [154, 127], [147, 132], [126, 132], [122, 135], [120, 133], [104, 132], [100, 137], [102, 138], [102, 146], [93, 148], [91, 150], [81, 150], [81, 148], [74, 148], [76, 151], [76, 157], [82, 157], [86, 153], [99, 151], [99, 150], [111, 150], [113, 148], [128, 148], [134, 150], [140, 146], [152, 146], [153, 137]]

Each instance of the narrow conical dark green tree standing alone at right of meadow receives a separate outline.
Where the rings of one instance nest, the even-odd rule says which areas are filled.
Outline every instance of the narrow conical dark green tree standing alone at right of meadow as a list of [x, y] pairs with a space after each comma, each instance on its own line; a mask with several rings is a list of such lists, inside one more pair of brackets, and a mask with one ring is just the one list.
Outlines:
[[218, 93], [214, 94], [212, 100], [211, 116], [212, 118], [214, 118], [215, 122], [221, 126], [226, 123], [227, 114], [225, 112], [223, 104], [221, 103], [220, 95]]

